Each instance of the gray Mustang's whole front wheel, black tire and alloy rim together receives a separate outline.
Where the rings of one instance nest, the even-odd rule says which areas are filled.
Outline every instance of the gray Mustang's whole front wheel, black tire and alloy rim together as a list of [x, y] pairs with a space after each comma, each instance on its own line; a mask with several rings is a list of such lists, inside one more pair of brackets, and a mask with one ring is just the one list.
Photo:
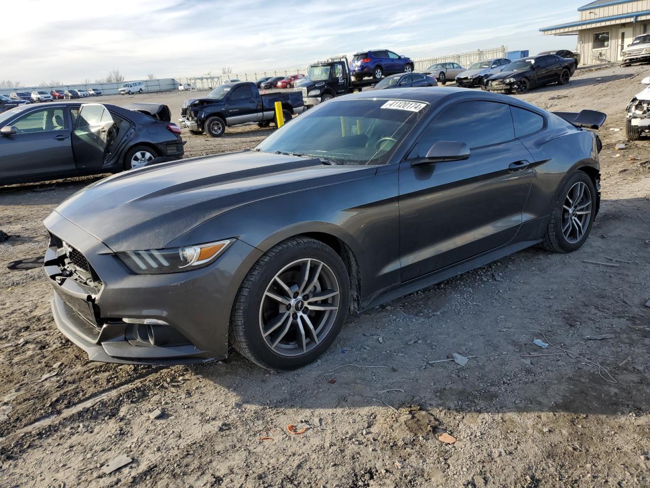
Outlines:
[[233, 306], [230, 342], [262, 368], [294, 370], [331, 346], [349, 305], [341, 257], [320, 241], [292, 237], [248, 272]]

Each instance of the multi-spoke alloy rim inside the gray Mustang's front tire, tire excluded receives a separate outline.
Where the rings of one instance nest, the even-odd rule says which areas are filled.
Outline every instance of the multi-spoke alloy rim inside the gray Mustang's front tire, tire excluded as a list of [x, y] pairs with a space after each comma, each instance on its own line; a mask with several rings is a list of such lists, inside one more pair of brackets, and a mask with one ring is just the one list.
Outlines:
[[281, 269], [259, 306], [259, 329], [281, 356], [311, 351], [330, 333], [339, 312], [339, 283], [324, 262], [305, 258]]

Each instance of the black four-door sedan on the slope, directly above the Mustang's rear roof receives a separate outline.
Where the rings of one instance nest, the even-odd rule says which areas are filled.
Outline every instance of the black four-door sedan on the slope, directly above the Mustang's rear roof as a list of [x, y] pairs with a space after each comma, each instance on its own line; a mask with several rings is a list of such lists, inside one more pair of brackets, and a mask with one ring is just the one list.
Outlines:
[[566, 85], [575, 71], [573, 59], [555, 55], [532, 56], [508, 64], [503, 71], [485, 79], [485, 88], [491, 92], [526, 93], [549, 83]]

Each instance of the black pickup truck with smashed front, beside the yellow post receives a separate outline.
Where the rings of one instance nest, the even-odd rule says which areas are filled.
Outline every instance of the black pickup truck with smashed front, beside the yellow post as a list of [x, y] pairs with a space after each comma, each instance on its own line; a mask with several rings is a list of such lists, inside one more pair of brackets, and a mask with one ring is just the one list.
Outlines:
[[190, 98], [183, 102], [181, 128], [192, 134], [207, 133], [220, 137], [226, 127], [258, 124], [268, 127], [276, 120], [275, 103], [282, 103], [282, 115], [285, 121], [293, 115], [305, 111], [302, 96], [298, 93], [275, 92], [260, 94], [252, 81], [221, 85], [214, 88], [205, 98]]

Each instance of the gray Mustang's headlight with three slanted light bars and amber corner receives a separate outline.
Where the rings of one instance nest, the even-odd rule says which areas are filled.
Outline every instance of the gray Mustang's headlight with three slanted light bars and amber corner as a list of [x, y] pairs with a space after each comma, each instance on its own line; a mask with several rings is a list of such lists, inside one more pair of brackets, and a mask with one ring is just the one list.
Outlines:
[[162, 275], [197, 269], [213, 262], [231, 243], [211, 242], [194, 246], [118, 252], [122, 262], [138, 275]]

